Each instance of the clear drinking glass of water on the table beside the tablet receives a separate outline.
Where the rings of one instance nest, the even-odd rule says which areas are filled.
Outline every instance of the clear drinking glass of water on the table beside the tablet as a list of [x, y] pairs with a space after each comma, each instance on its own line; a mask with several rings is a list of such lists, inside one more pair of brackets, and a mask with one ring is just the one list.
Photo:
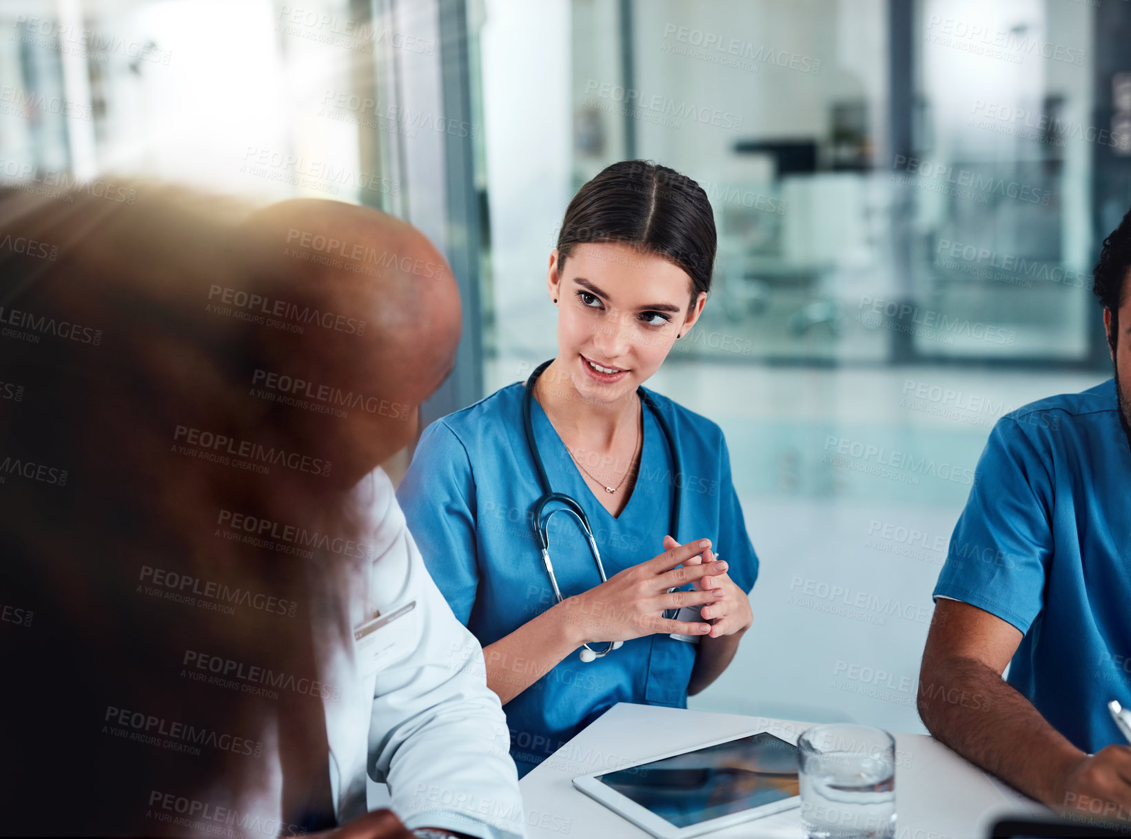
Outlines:
[[801, 821], [810, 839], [896, 834], [896, 741], [871, 726], [813, 726], [797, 738]]

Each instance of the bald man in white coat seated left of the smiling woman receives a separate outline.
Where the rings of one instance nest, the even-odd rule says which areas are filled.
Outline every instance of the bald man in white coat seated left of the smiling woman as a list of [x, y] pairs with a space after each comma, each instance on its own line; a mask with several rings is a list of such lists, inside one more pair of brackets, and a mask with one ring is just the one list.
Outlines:
[[314, 639], [323, 683], [342, 689], [325, 701], [336, 821], [365, 813], [368, 773], [388, 785], [389, 806], [418, 836], [523, 837], [506, 717], [482, 649], [429, 576], [379, 466], [414, 439], [416, 406], [451, 371], [460, 311], [450, 269], [411, 225], [334, 201], [286, 201], [244, 230], [262, 259], [278, 254], [282, 276], [317, 284], [327, 311], [365, 321], [361, 346], [355, 334], [308, 330], [280, 366], [381, 396], [346, 418], [295, 412], [295, 448], [317, 446], [334, 460], [335, 479], [368, 511], [371, 539], [349, 590], [316, 598], [347, 604]]

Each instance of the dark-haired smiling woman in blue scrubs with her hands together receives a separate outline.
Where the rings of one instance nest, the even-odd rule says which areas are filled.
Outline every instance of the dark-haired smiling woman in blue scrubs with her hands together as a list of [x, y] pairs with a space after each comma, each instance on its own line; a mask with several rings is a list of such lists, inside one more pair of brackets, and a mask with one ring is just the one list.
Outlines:
[[[616, 702], [687, 707], [750, 626], [758, 559], [723, 432], [638, 393], [702, 313], [715, 245], [707, 194], [673, 170], [624, 161], [586, 183], [550, 254], [558, 356], [532, 389], [550, 486], [526, 438], [527, 383], [516, 382], [430, 425], [398, 490], [435, 583], [483, 645], [520, 775]], [[607, 574], [578, 520], [554, 514], [561, 602], [536, 536], [547, 492], [584, 509]], [[610, 651], [582, 660], [586, 643]]]

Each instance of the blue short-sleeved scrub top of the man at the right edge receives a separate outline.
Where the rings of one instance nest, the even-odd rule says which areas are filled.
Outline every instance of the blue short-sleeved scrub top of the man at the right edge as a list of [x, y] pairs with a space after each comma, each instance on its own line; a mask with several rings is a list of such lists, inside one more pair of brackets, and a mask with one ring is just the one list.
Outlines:
[[1009, 683], [1086, 752], [1131, 706], [1131, 452], [1113, 380], [998, 421], [934, 596], [1024, 633]]

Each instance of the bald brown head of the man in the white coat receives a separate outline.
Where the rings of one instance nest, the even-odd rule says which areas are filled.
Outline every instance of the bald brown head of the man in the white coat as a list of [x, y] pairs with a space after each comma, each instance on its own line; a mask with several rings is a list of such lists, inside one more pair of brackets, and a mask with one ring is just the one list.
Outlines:
[[375, 400], [347, 418], [291, 413], [297, 448], [334, 459], [348, 486], [412, 441], [416, 406], [451, 371], [460, 332], [451, 270], [412, 225], [338, 201], [284, 201], [236, 235], [274, 276], [276, 297], [312, 299], [321, 311], [364, 321], [361, 335], [316, 327], [267, 338], [279, 372]]

